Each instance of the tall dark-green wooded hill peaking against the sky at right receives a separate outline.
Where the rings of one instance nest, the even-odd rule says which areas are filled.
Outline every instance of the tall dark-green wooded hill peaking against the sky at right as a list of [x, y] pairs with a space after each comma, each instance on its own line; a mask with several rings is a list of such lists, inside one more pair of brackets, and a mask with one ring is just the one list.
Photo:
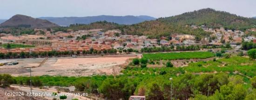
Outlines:
[[216, 11], [211, 8], [201, 9], [194, 12], [182, 13], [180, 15], [160, 18], [178, 25], [206, 25], [207, 27], [225, 27], [228, 29], [245, 30], [256, 27], [256, 19], [245, 18], [223, 11]]

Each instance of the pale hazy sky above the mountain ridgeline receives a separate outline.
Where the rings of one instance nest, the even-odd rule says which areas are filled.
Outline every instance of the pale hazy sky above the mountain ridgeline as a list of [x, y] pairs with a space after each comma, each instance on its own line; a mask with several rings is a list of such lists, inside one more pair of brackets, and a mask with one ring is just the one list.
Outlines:
[[149, 15], [168, 17], [202, 8], [256, 16], [256, 0], [0, 0], [0, 19], [32, 17]]

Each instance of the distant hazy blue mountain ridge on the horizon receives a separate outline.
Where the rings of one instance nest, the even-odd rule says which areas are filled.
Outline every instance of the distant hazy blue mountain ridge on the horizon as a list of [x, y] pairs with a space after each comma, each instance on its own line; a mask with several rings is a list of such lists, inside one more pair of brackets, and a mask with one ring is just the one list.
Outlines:
[[69, 26], [71, 24], [90, 24], [96, 21], [108, 21], [118, 24], [136, 24], [146, 20], [155, 20], [154, 17], [150, 16], [109, 16], [109, 15], [100, 15], [100, 16], [88, 16], [88, 17], [40, 17], [40, 19], [49, 20], [53, 23], [56, 23], [60, 26]]

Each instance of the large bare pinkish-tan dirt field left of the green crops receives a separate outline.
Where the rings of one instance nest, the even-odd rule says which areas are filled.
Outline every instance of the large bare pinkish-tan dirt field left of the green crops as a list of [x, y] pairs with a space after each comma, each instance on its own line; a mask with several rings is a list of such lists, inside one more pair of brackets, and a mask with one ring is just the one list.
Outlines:
[[29, 75], [62, 75], [62, 76], [89, 76], [94, 74], [119, 74], [121, 67], [127, 60], [139, 57], [137, 55], [106, 56], [92, 58], [49, 58], [49, 59], [22, 59], [18, 65], [1, 66], [0, 73], [9, 73], [13, 76]]

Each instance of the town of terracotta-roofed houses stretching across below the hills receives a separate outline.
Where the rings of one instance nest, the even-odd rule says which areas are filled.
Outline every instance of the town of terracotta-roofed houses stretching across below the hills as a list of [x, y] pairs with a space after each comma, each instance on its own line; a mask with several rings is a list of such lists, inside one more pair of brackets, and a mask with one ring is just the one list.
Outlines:
[[[32, 48], [0, 48], [0, 53], [41, 53], [41, 52], [73, 52], [73, 54], [86, 53], [93, 49], [95, 53], [103, 53], [104, 50], [116, 49], [115, 52], [122, 53], [133, 49], [141, 52], [145, 47], [169, 47], [169, 46], [221, 46], [230, 44], [232, 48], [239, 50], [243, 41], [253, 41], [254, 36], [245, 36], [245, 33], [239, 30], [225, 30], [223, 27], [212, 29], [205, 26], [195, 26], [192, 28], [202, 28], [206, 32], [211, 32], [210, 37], [201, 40], [196, 39], [194, 35], [174, 33], [169, 37], [161, 39], [148, 39], [147, 36], [127, 35], [120, 30], [91, 29], [74, 31], [68, 29], [65, 32], [47, 31], [46, 29], [34, 29], [35, 34], [22, 34], [13, 36], [12, 34], [0, 33], [1, 44], [22, 44], [33, 45]], [[256, 28], [247, 31], [255, 32]], [[84, 52], [83, 52], [84, 51]], [[86, 51], [86, 52], [85, 52]], [[104, 52], [105, 53], [105, 52]]]

